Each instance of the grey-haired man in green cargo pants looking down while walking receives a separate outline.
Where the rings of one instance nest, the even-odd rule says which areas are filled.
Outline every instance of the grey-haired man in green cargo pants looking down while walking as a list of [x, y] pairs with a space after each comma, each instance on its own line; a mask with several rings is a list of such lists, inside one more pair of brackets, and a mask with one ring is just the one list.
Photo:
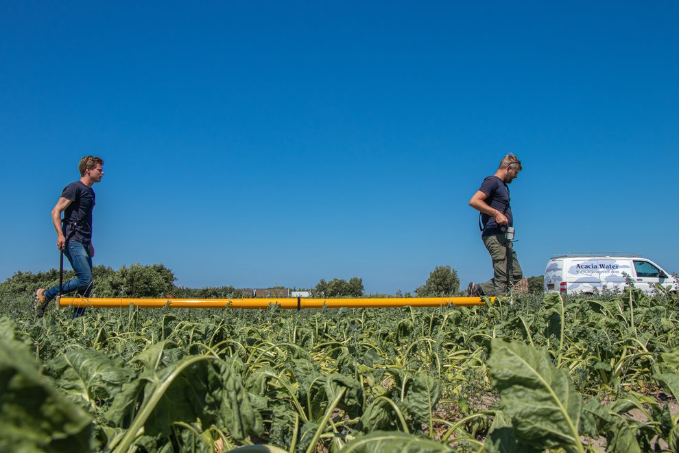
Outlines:
[[507, 154], [500, 161], [497, 172], [484, 179], [479, 190], [469, 200], [469, 205], [480, 212], [481, 240], [492, 259], [493, 278], [480, 285], [469, 283], [468, 296], [505, 296], [523, 277], [511, 242], [514, 218], [508, 187], [519, 176], [521, 168], [519, 158], [514, 154]]

